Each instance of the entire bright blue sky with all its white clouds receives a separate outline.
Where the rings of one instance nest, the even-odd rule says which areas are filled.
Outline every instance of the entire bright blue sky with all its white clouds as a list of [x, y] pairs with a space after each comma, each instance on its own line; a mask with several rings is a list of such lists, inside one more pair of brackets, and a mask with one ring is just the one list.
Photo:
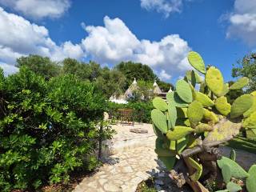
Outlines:
[[0, 66], [41, 54], [114, 66], [132, 60], [175, 82], [198, 51], [226, 81], [256, 46], [255, 0], [0, 0]]

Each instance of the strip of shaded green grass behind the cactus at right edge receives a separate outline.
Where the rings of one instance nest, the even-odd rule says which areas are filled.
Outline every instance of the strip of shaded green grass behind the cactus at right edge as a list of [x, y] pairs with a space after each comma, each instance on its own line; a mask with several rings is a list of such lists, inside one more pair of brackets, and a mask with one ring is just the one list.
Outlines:
[[242, 134], [228, 142], [226, 146], [256, 154], [256, 138], [243, 138]]

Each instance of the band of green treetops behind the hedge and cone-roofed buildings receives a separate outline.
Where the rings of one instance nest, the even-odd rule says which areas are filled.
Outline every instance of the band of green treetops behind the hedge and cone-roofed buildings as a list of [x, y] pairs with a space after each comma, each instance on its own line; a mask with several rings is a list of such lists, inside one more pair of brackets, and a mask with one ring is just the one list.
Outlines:
[[[162, 82], [150, 66], [135, 62], [121, 62], [114, 69], [101, 67], [96, 62], [80, 62], [74, 58], [65, 58], [62, 62], [53, 62], [50, 58], [31, 54], [17, 59], [17, 66], [26, 66], [35, 74], [42, 75], [46, 80], [62, 74], [74, 74], [78, 78], [93, 82], [98, 89], [110, 97], [112, 94], [122, 94], [134, 81], [138, 80], [145, 89], [153, 86], [154, 80], [164, 92], [170, 90], [170, 83]], [[147, 86], [146, 86], [147, 85]], [[174, 86], [172, 86], [174, 89]], [[145, 94], [145, 93], [144, 93]]]

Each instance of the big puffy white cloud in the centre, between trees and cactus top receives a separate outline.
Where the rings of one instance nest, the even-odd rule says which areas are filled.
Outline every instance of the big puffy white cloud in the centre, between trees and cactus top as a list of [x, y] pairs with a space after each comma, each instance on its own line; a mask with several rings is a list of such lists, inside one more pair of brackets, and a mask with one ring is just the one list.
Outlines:
[[[104, 18], [105, 26], [84, 26], [88, 36], [82, 40], [83, 49], [96, 62], [142, 62], [166, 74], [190, 69], [186, 55], [187, 42], [178, 34], [170, 34], [159, 42], [139, 40], [119, 18]], [[177, 75], [177, 74], [176, 74]]]

